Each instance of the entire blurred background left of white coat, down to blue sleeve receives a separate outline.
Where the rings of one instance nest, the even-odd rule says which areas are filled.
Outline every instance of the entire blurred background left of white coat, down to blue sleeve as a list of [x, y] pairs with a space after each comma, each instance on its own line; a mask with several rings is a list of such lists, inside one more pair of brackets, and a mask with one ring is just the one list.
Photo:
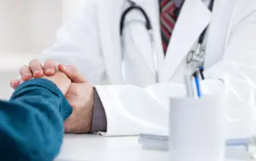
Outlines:
[[22, 65], [53, 45], [56, 31], [87, 0], [0, 0], [0, 98]]

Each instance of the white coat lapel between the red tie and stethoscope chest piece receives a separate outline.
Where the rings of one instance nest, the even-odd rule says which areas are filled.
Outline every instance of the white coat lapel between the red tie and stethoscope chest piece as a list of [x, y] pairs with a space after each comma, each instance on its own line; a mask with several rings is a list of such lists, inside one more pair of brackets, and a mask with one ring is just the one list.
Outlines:
[[184, 2], [168, 45], [166, 60], [160, 69], [160, 81], [170, 81], [209, 22], [210, 10], [202, 0], [186, 0]]

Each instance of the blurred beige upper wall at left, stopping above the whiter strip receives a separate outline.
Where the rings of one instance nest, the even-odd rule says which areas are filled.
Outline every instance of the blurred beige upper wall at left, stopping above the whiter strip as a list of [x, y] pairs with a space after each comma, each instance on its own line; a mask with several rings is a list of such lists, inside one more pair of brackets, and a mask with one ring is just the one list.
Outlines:
[[0, 0], [0, 53], [41, 53], [86, 0]]

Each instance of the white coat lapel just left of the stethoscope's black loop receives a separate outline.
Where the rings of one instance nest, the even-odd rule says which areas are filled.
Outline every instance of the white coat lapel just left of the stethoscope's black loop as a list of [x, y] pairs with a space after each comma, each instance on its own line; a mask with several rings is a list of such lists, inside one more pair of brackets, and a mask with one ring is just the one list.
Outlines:
[[119, 21], [123, 0], [98, 2], [98, 30], [106, 74], [111, 84], [122, 84]]

